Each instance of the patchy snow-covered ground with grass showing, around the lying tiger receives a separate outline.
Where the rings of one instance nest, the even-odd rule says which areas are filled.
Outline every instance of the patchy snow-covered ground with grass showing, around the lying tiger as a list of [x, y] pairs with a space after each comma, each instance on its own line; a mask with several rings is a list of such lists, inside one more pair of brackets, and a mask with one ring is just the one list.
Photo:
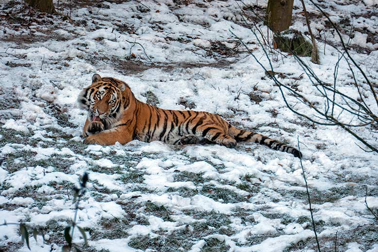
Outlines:
[[[72, 189], [84, 172], [90, 180], [78, 225], [89, 241], [81, 251], [316, 250], [302, 170], [290, 154], [254, 143], [235, 149], [138, 141], [82, 144], [86, 114], [76, 99], [98, 73], [126, 81], [138, 99], [160, 108], [218, 113], [293, 146], [299, 138], [322, 251], [336, 245], [336, 251], [378, 252], [377, 221], [365, 205], [367, 189], [369, 207], [378, 209], [378, 156], [364, 152], [341, 128], [314, 125], [291, 112], [233, 35], [268, 67], [253, 25], [243, 21], [239, 8], [263, 17], [267, 0], [244, 5], [81, 0], [73, 1], [71, 14], [69, 0], [54, 2], [61, 15], [34, 12], [22, 0], [0, 0], [0, 221], [24, 222], [30, 231], [41, 228], [45, 241], [41, 234], [37, 242], [30, 238], [31, 251], [61, 251], [64, 228], [74, 217]], [[333, 83], [339, 39], [305, 2], [321, 64], [302, 60]], [[377, 83], [377, 2], [320, 4]], [[299, 0], [292, 26], [307, 32]], [[306, 76], [299, 78], [303, 70], [294, 58], [274, 51], [270, 57], [274, 71], [290, 77], [280, 80], [321, 108], [323, 100]], [[360, 74], [356, 78], [362, 82]], [[346, 62], [340, 63], [337, 85], [357, 95]], [[368, 94], [365, 101], [377, 113]], [[296, 109], [311, 113], [300, 103]], [[357, 130], [367, 141], [377, 141], [376, 131]], [[0, 226], [0, 251], [29, 251], [20, 240], [16, 225]], [[79, 232], [74, 242], [83, 243]]]

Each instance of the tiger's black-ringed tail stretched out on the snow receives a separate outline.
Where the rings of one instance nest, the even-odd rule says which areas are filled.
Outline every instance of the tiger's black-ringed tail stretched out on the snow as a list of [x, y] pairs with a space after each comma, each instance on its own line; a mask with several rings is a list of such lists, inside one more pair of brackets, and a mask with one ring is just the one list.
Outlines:
[[300, 151], [297, 150], [296, 148], [293, 148], [282, 142], [278, 142], [276, 140], [270, 139], [259, 133], [254, 133], [251, 131], [246, 131], [246, 130], [238, 129], [234, 126], [231, 126], [229, 128], [229, 134], [231, 137], [233, 137], [236, 140], [236, 142], [257, 142], [257, 143], [268, 146], [270, 149], [287, 152], [287, 153], [293, 154], [294, 157], [299, 157], [299, 158], [302, 157], [302, 153], [300, 153]]

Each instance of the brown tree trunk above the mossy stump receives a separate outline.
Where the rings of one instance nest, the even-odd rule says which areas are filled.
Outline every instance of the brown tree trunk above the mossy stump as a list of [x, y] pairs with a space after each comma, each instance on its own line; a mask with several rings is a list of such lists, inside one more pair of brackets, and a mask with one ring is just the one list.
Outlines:
[[285, 31], [291, 25], [294, 0], [268, 0], [265, 21], [274, 33]]

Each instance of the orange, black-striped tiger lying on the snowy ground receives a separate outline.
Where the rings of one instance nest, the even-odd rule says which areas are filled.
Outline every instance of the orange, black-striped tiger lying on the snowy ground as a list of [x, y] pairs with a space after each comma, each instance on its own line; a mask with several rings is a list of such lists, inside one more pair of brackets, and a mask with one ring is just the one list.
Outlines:
[[85, 144], [125, 144], [132, 140], [173, 145], [215, 143], [229, 148], [256, 142], [302, 157], [296, 149], [259, 133], [238, 129], [220, 115], [194, 110], [164, 110], [138, 100], [126, 82], [94, 74], [78, 97], [87, 110], [82, 136]]

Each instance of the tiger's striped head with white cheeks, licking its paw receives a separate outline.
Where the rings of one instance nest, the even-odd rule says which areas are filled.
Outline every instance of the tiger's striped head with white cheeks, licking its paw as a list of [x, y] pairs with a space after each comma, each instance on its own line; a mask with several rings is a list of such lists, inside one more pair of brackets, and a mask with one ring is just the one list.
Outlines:
[[79, 107], [88, 111], [89, 121], [100, 121], [105, 129], [109, 129], [122, 115], [122, 92], [126, 87], [121, 80], [94, 74], [92, 84], [79, 94]]

